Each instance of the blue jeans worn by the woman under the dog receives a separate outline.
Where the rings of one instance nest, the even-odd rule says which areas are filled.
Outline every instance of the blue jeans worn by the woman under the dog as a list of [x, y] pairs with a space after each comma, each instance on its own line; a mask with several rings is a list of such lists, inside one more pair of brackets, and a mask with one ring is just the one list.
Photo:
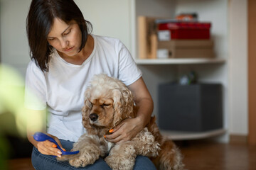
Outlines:
[[[70, 151], [73, 148], [74, 142], [70, 142], [66, 140], [60, 140], [60, 142], [61, 142], [61, 145], [63, 145], [63, 148], [65, 148], [67, 151]], [[90, 164], [85, 167], [75, 168], [74, 166], [71, 166], [68, 162], [58, 162], [57, 159], [53, 156], [41, 154], [38, 151], [38, 149], [36, 149], [36, 147], [33, 147], [32, 164], [36, 170], [111, 169], [110, 166], [108, 166], [107, 163], [104, 161], [104, 159], [101, 157], [94, 164]], [[148, 157], [137, 156], [134, 169], [135, 170], [147, 170], [147, 169], [156, 170], [156, 167]]]

